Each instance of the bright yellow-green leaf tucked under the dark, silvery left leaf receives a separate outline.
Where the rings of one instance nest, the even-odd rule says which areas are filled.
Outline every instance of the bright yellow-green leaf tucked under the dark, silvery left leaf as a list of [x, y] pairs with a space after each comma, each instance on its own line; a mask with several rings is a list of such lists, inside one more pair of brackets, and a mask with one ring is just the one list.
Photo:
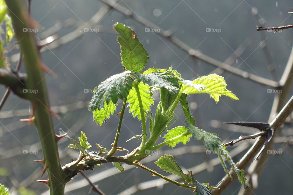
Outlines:
[[110, 114], [113, 115], [114, 111], [116, 110], [116, 104], [114, 104], [112, 101], [107, 104], [106, 101], [104, 101], [104, 108], [98, 110], [96, 109], [93, 114], [93, 120], [96, 121], [97, 124], [102, 126], [103, 121], [105, 119], [109, 119]]

